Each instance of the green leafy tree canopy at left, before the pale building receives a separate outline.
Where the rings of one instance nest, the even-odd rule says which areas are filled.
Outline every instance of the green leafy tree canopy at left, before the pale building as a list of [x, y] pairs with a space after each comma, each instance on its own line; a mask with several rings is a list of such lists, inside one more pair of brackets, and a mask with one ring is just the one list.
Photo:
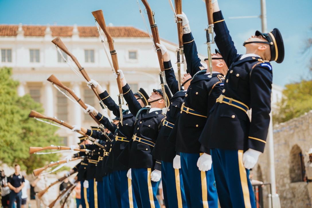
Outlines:
[[47, 162], [57, 161], [59, 155], [29, 155], [29, 147], [60, 145], [59, 136], [55, 135], [56, 126], [28, 117], [31, 110], [43, 113], [41, 104], [29, 94], [19, 97], [19, 82], [11, 76], [11, 68], [0, 68], [0, 164], [18, 163], [22, 170], [31, 173]]

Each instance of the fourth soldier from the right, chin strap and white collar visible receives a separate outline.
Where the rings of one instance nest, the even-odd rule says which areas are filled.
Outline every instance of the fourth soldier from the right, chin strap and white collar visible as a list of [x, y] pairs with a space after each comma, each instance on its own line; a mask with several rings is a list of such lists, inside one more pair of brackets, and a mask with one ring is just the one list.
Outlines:
[[[161, 89], [154, 89], [148, 99], [151, 108], [142, 108], [127, 84], [122, 70], [118, 72], [129, 110], [136, 115], [132, 140], [129, 141], [118, 160], [130, 168], [127, 176], [132, 179], [138, 207], [159, 208], [156, 193], [158, 181], [161, 178], [161, 161], [155, 160], [151, 152], [155, 146], [159, 126], [165, 117], [162, 112], [162, 108], [166, 106], [163, 96], [167, 94]], [[170, 99], [170, 94], [168, 96], [167, 101]]]

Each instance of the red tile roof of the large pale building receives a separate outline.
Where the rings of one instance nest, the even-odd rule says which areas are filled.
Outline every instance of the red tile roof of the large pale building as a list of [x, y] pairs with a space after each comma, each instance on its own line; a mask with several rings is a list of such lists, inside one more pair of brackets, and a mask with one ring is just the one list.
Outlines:
[[[24, 36], [44, 36], [46, 26], [23, 25]], [[98, 37], [95, 26], [78, 26], [80, 37]], [[69, 37], [73, 34], [73, 26], [50, 26], [52, 36]], [[16, 36], [18, 25], [0, 25], [0, 36]], [[112, 37], [149, 37], [147, 32], [131, 26], [107, 27]]]

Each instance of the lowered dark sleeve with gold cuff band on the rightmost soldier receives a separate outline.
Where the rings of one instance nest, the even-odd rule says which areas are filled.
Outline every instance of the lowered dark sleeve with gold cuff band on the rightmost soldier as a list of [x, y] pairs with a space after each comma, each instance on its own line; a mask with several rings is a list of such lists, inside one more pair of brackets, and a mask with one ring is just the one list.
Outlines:
[[272, 68], [269, 63], [257, 64], [250, 76], [251, 123], [248, 147], [264, 151], [270, 124]]

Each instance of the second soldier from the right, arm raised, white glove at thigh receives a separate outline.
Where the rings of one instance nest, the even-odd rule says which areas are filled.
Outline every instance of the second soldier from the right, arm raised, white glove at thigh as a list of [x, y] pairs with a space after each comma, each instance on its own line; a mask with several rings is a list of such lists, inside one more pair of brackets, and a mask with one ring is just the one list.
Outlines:
[[212, 54], [208, 58], [212, 58], [213, 73], [206, 73], [198, 58], [188, 19], [184, 13], [178, 17], [183, 21], [184, 55], [193, 80], [185, 94], [181, 114], [168, 139], [175, 142], [176, 151], [180, 152], [188, 207], [218, 207], [210, 150], [201, 148], [198, 139], [209, 111], [222, 93], [227, 65], [220, 53]]

